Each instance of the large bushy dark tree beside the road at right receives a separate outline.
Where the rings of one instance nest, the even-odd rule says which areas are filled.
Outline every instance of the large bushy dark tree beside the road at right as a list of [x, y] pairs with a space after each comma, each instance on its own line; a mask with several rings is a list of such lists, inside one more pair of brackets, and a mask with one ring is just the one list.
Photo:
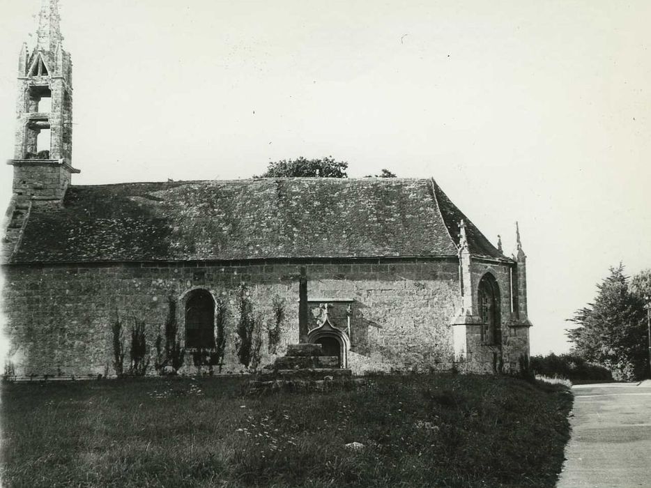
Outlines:
[[569, 319], [578, 327], [567, 330], [573, 353], [611, 369], [615, 379], [638, 379], [647, 370], [644, 302], [629, 289], [624, 266], [597, 284], [595, 303]]

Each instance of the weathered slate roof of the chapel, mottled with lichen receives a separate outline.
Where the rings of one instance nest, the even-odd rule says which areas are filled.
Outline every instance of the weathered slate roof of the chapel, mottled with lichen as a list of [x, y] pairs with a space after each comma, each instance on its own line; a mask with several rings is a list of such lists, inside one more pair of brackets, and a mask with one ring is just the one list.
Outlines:
[[34, 206], [14, 263], [502, 258], [431, 179], [268, 178], [71, 186]]

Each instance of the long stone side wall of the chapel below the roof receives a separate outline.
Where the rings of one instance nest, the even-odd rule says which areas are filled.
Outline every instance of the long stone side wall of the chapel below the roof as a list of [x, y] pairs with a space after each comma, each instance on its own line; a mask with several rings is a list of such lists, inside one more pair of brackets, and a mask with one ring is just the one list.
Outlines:
[[[353, 300], [353, 372], [451, 367], [448, 321], [459, 307], [456, 260], [250, 263], [6, 266], [2, 305], [16, 374], [113, 376], [111, 330], [116, 320], [123, 323], [127, 338], [135, 320], [144, 321], [153, 365], [154, 341], [164, 328], [168, 298], [176, 300], [183, 339], [183, 300], [197, 288], [208, 289], [227, 305], [222, 373], [243, 372], [235, 346], [238, 287], [247, 284], [263, 329], [274, 298], [282, 300], [286, 319], [277, 350], [282, 354], [286, 344], [298, 341], [300, 266], [307, 269], [309, 298]], [[264, 330], [262, 336], [261, 365], [266, 365], [275, 356], [268, 353]], [[127, 340], [125, 369], [128, 363]], [[185, 372], [194, 372], [190, 354], [185, 365]], [[153, 366], [149, 371], [154, 373]]]

